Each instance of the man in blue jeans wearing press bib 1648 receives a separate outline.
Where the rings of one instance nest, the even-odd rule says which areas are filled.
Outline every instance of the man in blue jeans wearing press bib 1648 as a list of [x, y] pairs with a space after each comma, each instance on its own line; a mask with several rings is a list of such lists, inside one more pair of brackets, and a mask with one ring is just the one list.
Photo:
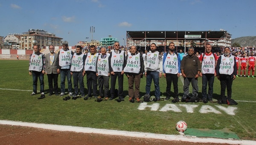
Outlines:
[[150, 45], [150, 50], [147, 52], [144, 60], [145, 66], [145, 77], [146, 79], [146, 95], [150, 94], [150, 87], [152, 79], [155, 86], [155, 99], [160, 100], [160, 87], [159, 87], [159, 78], [162, 77], [163, 73], [163, 58], [162, 55], [156, 51], [156, 44], [152, 43]]

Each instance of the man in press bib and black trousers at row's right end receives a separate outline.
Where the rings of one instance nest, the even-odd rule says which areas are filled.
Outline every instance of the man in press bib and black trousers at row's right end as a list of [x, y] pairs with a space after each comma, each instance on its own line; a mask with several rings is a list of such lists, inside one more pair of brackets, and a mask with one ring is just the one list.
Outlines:
[[[216, 65], [216, 75], [221, 81], [221, 102], [227, 104], [227, 98], [231, 98], [232, 83], [236, 78], [236, 59], [230, 54], [230, 48], [224, 48], [224, 55], [218, 58]], [[227, 88], [227, 98], [225, 97], [225, 91]]]

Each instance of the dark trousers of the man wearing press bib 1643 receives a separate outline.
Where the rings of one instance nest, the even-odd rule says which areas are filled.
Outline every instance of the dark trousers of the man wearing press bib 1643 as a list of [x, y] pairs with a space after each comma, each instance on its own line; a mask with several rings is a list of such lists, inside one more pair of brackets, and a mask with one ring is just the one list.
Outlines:
[[123, 93], [123, 83], [124, 83], [124, 75], [121, 75], [121, 72], [114, 72], [115, 74], [110, 76], [111, 78], [111, 88], [110, 93], [111, 97], [114, 98], [115, 96], [115, 87], [116, 87], [116, 78], [118, 78], [118, 97], [122, 98]]

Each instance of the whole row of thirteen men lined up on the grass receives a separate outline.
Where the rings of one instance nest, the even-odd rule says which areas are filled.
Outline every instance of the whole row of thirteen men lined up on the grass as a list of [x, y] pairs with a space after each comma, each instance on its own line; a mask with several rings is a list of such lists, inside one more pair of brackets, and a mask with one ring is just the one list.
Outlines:
[[[97, 79], [99, 83], [99, 95], [100, 97], [106, 97], [108, 99], [108, 81], [109, 76], [111, 77], [111, 100], [115, 97], [115, 85], [116, 78], [118, 78], [118, 97], [122, 101], [122, 93], [123, 93], [123, 74], [128, 77], [128, 94], [129, 101], [135, 97], [137, 102], [142, 102], [139, 99], [140, 92], [140, 78], [145, 71], [146, 77], [146, 95], [149, 96], [151, 82], [152, 79], [154, 81], [155, 87], [155, 97], [157, 100], [160, 100], [160, 86], [159, 86], [159, 78], [162, 77], [162, 73], [166, 78], [167, 87], [166, 87], [166, 99], [170, 99], [170, 88], [171, 83], [173, 83], [174, 99], [178, 98], [178, 87], [177, 81], [178, 77], [181, 75], [184, 78], [184, 86], [183, 86], [183, 94], [189, 93], [189, 84], [192, 82], [193, 94], [198, 96], [198, 77], [203, 77], [203, 88], [202, 88], [202, 99], [207, 102], [207, 82], [209, 81], [209, 90], [208, 90], [208, 100], [212, 102], [212, 86], [214, 81], [214, 76], [218, 76], [218, 79], [221, 78], [221, 74], [224, 77], [230, 77], [232, 80], [236, 77], [235, 66], [232, 59], [229, 63], [224, 62], [225, 59], [217, 59], [215, 54], [211, 52], [211, 46], [209, 44], [206, 45], [206, 53], [201, 54], [201, 58], [194, 57], [194, 48], [190, 47], [188, 51], [188, 55], [184, 56], [182, 61], [180, 56], [177, 55], [177, 52], [174, 51], [175, 45], [174, 43], [169, 44], [170, 51], [166, 52], [163, 55], [160, 55], [158, 51], [156, 51], [156, 44], [151, 44], [151, 51], [143, 57], [140, 53], [136, 51], [135, 46], [131, 46], [131, 53], [129, 53], [125, 57], [125, 52], [119, 49], [119, 43], [115, 42], [114, 50], [110, 53], [110, 55], [106, 54], [106, 49], [102, 48], [102, 54], [99, 55], [96, 53], [95, 46], [90, 46], [90, 53], [84, 55], [81, 52], [81, 46], [76, 47], [76, 53], [74, 54], [71, 50], [68, 49], [67, 41], [63, 42], [63, 49], [61, 49], [58, 54], [54, 53], [54, 46], [49, 46], [50, 54], [47, 54], [44, 57], [44, 54], [39, 52], [38, 46], [33, 46], [34, 53], [30, 57], [29, 64], [29, 74], [33, 75], [33, 93], [31, 95], [36, 94], [36, 85], [37, 85], [37, 77], [41, 82], [44, 73], [48, 76], [49, 82], [49, 95], [52, 95], [53, 91], [55, 95], [58, 95], [58, 74], [61, 74], [61, 96], [65, 94], [65, 79], [67, 76], [68, 81], [68, 93], [69, 95], [73, 95], [72, 93], [72, 82], [71, 75], [73, 75], [74, 80], [74, 90], [75, 96], [78, 95], [78, 82], [80, 86], [81, 97], [97, 97]], [[230, 51], [230, 49], [229, 49]], [[37, 56], [36, 56], [37, 55]], [[57, 56], [56, 56], [57, 55]], [[223, 57], [230, 57], [231, 55], [224, 54]], [[45, 59], [46, 58], [46, 59]], [[236, 61], [234, 61], [236, 62]], [[204, 63], [203, 65], [201, 65]], [[217, 64], [217, 65], [216, 65]], [[224, 66], [222, 66], [222, 64]], [[145, 66], [145, 68], [144, 68]], [[216, 71], [215, 71], [216, 67]], [[46, 70], [46, 71], [45, 71]], [[54, 72], [53, 70], [56, 70]], [[201, 72], [202, 70], [202, 72]], [[83, 84], [83, 76], [87, 75], [87, 89], [88, 96], [84, 96], [84, 84]], [[226, 76], [227, 75], [227, 76]], [[54, 88], [52, 87], [52, 80], [54, 82]], [[135, 91], [134, 91], [135, 84]], [[224, 84], [226, 85], [224, 87]], [[223, 85], [223, 86], [222, 86]], [[231, 82], [232, 85], [232, 82]], [[103, 86], [105, 92], [103, 93]], [[222, 83], [221, 82], [221, 96], [224, 96], [223, 89], [225, 93], [225, 89], [227, 87], [228, 97], [231, 97], [230, 93], [230, 81]], [[92, 90], [92, 92], [91, 92]], [[38, 99], [44, 98], [44, 87], [43, 82], [41, 83], [41, 97]]]

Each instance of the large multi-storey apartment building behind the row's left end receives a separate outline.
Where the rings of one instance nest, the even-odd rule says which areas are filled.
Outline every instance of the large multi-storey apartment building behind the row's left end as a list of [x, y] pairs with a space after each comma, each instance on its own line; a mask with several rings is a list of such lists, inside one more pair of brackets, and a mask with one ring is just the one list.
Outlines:
[[40, 48], [47, 46], [61, 46], [63, 38], [56, 37], [55, 34], [49, 33], [42, 29], [29, 29], [20, 37], [20, 49], [32, 49], [33, 45], [38, 45]]

